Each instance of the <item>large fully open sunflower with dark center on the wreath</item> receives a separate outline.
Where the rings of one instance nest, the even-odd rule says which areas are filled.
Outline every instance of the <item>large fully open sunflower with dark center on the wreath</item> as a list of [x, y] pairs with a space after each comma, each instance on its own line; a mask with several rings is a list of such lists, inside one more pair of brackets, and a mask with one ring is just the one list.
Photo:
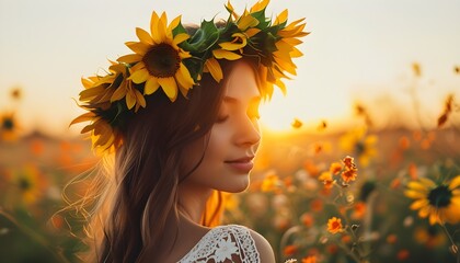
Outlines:
[[136, 34], [139, 42], [128, 42], [135, 54], [118, 58], [119, 62], [133, 64], [129, 77], [134, 83], [146, 83], [143, 93], [149, 95], [160, 87], [171, 101], [177, 98], [177, 90], [185, 96], [195, 84], [183, 59], [191, 55], [177, 45], [186, 41], [189, 35], [181, 33], [173, 35], [173, 30], [180, 24], [181, 16], [175, 18], [169, 26], [166, 14], [161, 18], [156, 12], [150, 21], [150, 32], [137, 27]]

